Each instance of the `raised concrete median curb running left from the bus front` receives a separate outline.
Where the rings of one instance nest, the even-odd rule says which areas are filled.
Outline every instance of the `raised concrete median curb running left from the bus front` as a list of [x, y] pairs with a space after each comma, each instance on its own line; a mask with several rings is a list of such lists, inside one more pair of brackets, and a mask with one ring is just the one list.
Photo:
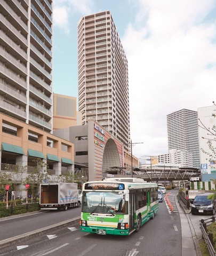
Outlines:
[[47, 231], [53, 231], [53, 230], [56, 230], [58, 228], [66, 227], [70, 224], [76, 223], [79, 220], [80, 220], [80, 217], [77, 217], [77, 218], [67, 220], [67, 221], [63, 221], [63, 222], [60, 222], [58, 224], [54, 224], [54, 225], [51, 225], [51, 226], [48, 226], [48, 227], [40, 228], [40, 229], [25, 233], [25, 234], [22, 234], [22, 235], [19, 235], [19, 236], [14, 236], [14, 237], [11, 237], [11, 238], [7, 238], [5, 240], [0, 241], [0, 249], [5, 248], [5, 247], [10, 246], [10, 245], [14, 245], [15, 243], [19, 243], [19, 242], [22, 242], [22, 241], [27, 241], [28, 239], [31, 239], [33, 237], [43, 235], [43, 234], [47, 233]]

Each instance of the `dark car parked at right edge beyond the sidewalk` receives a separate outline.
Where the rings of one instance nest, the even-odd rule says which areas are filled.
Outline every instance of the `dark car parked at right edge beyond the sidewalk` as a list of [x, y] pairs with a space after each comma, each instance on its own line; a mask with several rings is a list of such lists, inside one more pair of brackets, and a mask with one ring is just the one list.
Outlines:
[[215, 214], [216, 199], [208, 198], [213, 193], [198, 194], [191, 202], [191, 214]]

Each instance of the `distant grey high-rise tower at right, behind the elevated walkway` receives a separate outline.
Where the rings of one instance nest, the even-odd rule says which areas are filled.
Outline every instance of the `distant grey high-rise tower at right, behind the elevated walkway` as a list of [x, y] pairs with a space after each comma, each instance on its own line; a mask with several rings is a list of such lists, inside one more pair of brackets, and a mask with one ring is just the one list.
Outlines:
[[181, 109], [167, 115], [167, 133], [169, 153], [172, 149], [189, 151], [193, 167], [200, 169], [197, 111]]

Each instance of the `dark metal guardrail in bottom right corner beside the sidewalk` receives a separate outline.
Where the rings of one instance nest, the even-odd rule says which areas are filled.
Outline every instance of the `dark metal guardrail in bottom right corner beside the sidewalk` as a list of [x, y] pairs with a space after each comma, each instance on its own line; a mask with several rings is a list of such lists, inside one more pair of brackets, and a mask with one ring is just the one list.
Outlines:
[[202, 238], [205, 240], [205, 243], [207, 245], [207, 249], [209, 250], [209, 253], [211, 256], [216, 256], [216, 252], [213, 247], [213, 234], [210, 232], [207, 234], [207, 226], [210, 225], [210, 223], [215, 222], [215, 216], [212, 216], [209, 219], [202, 219], [199, 221], [199, 226], [202, 231]]

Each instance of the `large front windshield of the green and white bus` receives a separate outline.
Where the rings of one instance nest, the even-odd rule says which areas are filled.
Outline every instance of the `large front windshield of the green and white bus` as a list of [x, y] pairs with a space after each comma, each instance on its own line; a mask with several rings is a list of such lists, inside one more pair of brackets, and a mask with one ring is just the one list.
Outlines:
[[127, 202], [118, 192], [84, 191], [82, 212], [126, 214]]

